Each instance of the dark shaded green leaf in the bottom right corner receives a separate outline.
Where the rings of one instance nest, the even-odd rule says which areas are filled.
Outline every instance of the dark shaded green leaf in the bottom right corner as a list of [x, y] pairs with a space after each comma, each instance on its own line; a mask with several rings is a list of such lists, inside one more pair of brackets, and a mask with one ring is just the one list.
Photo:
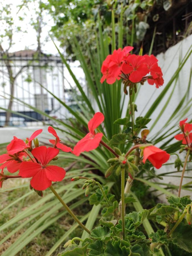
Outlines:
[[176, 244], [179, 248], [192, 253], [192, 227], [180, 223], [172, 234], [172, 243]]

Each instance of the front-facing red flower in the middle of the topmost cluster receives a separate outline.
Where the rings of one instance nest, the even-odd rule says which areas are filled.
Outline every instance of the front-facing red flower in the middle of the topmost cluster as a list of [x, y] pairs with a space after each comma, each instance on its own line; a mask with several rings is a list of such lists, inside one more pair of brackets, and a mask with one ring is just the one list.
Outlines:
[[122, 71], [129, 75], [129, 80], [138, 83], [148, 73], [147, 65], [144, 63], [145, 58], [139, 55], [129, 55], [126, 62], [122, 65]]

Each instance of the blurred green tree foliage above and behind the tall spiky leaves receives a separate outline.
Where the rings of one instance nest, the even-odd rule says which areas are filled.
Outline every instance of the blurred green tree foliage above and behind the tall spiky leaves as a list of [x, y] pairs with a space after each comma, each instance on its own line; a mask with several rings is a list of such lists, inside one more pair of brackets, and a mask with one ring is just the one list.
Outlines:
[[[87, 44], [92, 50], [96, 50], [96, 31], [98, 15], [100, 16], [103, 33], [107, 32], [109, 41], [112, 36], [111, 16], [115, 14], [115, 33], [118, 32], [118, 21], [121, 9], [123, 11], [123, 46], [129, 42], [140, 47], [147, 29], [149, 28], [148, 16], [154, 7], [162, 7], [163, 2], [155, 0], [49, 0], [41, 3], [41, 9], [47, 10], [53, 17], [54, 25], [51, 32], [65, 48], [67, 58], [76, 59], [74, 47], [74, 35], [77, 37], [84, 56], [88, 58]], [[153, 17], [153, 22], [158, 20], [158, 15]], [[132, 26], [134, 29], [133, 42], [131, 42]], [[117, 35], [116, 35], [117, 37]]]

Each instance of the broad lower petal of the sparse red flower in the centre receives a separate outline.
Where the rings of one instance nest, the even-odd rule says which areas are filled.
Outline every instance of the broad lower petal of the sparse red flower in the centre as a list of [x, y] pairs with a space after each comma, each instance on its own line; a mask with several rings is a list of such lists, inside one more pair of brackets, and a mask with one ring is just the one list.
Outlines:
[[99, 146], [99, 143], [103, 137], [102, 133], [97, 133], [95, 136], [92, 136], [91, 133], [88, 133], [83, 139], [81, 139], [74, 147], [73, 154], [79, 156], [81, 152], [94, 150]]

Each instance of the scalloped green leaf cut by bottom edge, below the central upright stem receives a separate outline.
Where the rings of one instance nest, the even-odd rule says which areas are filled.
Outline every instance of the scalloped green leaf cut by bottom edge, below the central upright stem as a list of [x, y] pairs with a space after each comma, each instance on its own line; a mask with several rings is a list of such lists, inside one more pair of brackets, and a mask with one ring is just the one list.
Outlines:
[[105, 256], [130, 256], [130, 243], [124, 240], [109, 241], [106, 245]]

